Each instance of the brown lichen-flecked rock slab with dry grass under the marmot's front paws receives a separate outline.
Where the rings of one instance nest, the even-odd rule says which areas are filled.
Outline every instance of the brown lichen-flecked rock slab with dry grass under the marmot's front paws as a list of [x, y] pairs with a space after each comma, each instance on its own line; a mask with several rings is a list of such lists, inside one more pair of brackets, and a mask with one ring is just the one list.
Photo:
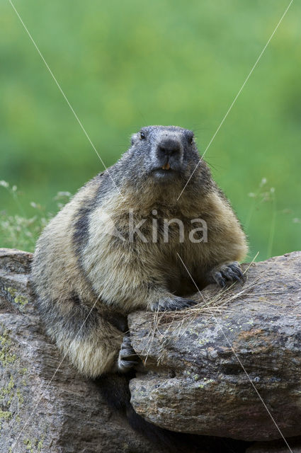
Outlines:
[[241, 440], [301, 435], [301, 252], [246, 275], [244, 285], [210, 285], [185, 312], [130, 314], [147, 370], [130, 382], [131, 401], [146, 420]]

